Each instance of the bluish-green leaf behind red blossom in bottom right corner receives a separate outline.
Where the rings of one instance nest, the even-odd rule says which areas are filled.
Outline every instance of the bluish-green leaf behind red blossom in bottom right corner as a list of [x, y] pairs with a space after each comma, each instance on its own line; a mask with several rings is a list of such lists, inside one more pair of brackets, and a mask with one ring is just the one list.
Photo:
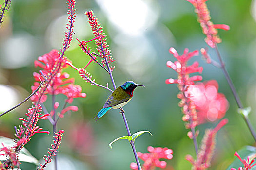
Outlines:
[[[255, 155], [256, 147], [245, 146], [241, 150], [239, 150], [237, 153], [241, 156], [242, 159], [247, 160], [248, 156], [251, 157]], [[232, 164], [230, 164], [230, 166], [226, 170], [230, 170], [231, 168], [238, 169], [239, 167], [243, 167], [243, 163], [236, 156], [234, 157], [235, 157], [235, 160], [232, 162]], [[252, 169], [250, 170], [255, 170], [255, 169], [256, 169], [256, 166], [252, 167]]]

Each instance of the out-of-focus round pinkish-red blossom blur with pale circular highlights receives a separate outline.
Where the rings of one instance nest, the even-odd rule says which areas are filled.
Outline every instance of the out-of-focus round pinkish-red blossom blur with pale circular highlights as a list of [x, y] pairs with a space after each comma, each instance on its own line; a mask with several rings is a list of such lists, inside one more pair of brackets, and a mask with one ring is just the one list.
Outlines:
[[215, 121], [224, 117], [229, 102], [222, 93], [218, 93], [218, 83], [215, 80], [199, 82], [190, 86], [188, 93], [197, 109], [198, 123]]

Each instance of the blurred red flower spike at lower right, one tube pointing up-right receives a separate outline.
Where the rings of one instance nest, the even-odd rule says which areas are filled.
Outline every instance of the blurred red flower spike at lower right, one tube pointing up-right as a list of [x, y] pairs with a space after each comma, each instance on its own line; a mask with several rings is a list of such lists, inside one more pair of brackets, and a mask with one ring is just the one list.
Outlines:
[[206, 170], [211, 165], [217, 132], [228, 123], [228, 119], [222, 119], [214, 129], [206, 129], [200, 150], [197, 154], [197, 160], [191, 155], [187, 155], [186, 159], [193, 165], [192, 170]]

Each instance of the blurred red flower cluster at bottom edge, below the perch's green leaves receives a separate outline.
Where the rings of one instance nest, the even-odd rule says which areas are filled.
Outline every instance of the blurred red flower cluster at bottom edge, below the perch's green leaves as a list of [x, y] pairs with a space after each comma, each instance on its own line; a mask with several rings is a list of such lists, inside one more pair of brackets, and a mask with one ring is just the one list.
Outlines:
[[[155, 167], [165, 168], [166, 162], [160, 161], [159, 159], [172, 159], [173, 158], [173, 150], [168, 148], [153, 148], [152, 146], [148, 147], [148, 151], [150, 153], [141, 153], [138, 152], [138, 157], [144, 161], [143, 170], [152, 170]], [[130, 164], [130, 168], [132, 170], [138, 170], [138, 166], [136, 163], [132, 162]]]

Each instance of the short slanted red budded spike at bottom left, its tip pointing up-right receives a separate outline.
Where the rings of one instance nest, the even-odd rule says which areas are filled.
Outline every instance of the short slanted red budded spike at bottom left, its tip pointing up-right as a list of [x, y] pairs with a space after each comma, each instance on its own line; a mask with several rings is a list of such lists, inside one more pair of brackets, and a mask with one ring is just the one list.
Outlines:
[[49, 148], [49, 151], [47, 152], [48, 155], [43, 157], [45, 163], [43, 165], [40, 164], [40, 168], [38, 167], [37, 170], [43, 170], [46, 165], [52, 161], [53, 157], [56, 156], [64, 132], [64, 130], [59, 130], [57, 133], [55, 133], [53, 144], [51, 144], [52, 148]]

